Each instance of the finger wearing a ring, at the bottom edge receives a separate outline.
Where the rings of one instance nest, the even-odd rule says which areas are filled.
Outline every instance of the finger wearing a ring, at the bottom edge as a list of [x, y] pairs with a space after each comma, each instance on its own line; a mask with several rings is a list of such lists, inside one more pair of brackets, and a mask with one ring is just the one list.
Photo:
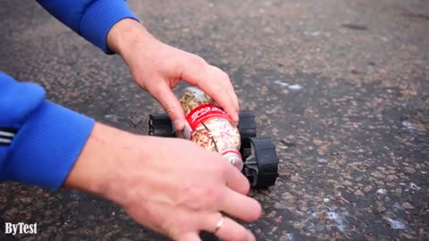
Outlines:
[[[222, 226], [216, 230], [219, 221], [223, 218]], [[215, 236], [220, 237], [222, 240], [229, 241], [250, 241], [256, 240], [248, 229], [245, 229], [235, 220], [231, 220], [226, 216], [222, 216], [221, 213], [213, 213], [208, 216], [204, 216], [203, 229], [214, 233]]]

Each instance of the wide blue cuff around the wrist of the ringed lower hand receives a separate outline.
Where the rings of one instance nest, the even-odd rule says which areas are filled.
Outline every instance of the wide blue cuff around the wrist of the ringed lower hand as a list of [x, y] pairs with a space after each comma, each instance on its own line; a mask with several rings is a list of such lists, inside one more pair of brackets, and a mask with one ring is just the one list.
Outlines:
[[58, 189], [78, 159], [95, 120], [45, 101], [13, 139], [8, 179]]

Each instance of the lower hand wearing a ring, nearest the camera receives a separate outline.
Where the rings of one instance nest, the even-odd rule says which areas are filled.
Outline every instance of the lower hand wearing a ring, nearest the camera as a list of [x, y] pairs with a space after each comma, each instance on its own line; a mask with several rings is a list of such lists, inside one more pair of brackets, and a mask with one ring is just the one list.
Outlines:
[[[64, 185], [104, 196], [177, 241], [214, 232], [221, 212], [245, 221], [261, 214], [260, 204], [247, 196], [248, 179], [220, 154], [187, 140], [138, 136], [98, 123]], [[255, 240], [228, 217], [216, 236]]]

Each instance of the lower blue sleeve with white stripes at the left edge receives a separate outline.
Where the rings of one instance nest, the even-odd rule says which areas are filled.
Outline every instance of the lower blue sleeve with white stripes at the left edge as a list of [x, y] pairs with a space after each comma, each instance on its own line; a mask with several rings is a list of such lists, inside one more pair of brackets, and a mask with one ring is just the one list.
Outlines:
[[0, 179], [61, 187], [94, 122], [0, 71]]

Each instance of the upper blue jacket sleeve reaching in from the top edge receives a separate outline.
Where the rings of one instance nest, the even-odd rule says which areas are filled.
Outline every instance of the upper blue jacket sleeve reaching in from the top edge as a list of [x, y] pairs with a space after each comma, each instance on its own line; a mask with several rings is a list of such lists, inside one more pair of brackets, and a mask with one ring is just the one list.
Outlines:
[[112, 54], [106, 37], [114, 24], [126, 18], [139, 21], [124, 0], [38, 0], [38, 3], [107, 54]]

